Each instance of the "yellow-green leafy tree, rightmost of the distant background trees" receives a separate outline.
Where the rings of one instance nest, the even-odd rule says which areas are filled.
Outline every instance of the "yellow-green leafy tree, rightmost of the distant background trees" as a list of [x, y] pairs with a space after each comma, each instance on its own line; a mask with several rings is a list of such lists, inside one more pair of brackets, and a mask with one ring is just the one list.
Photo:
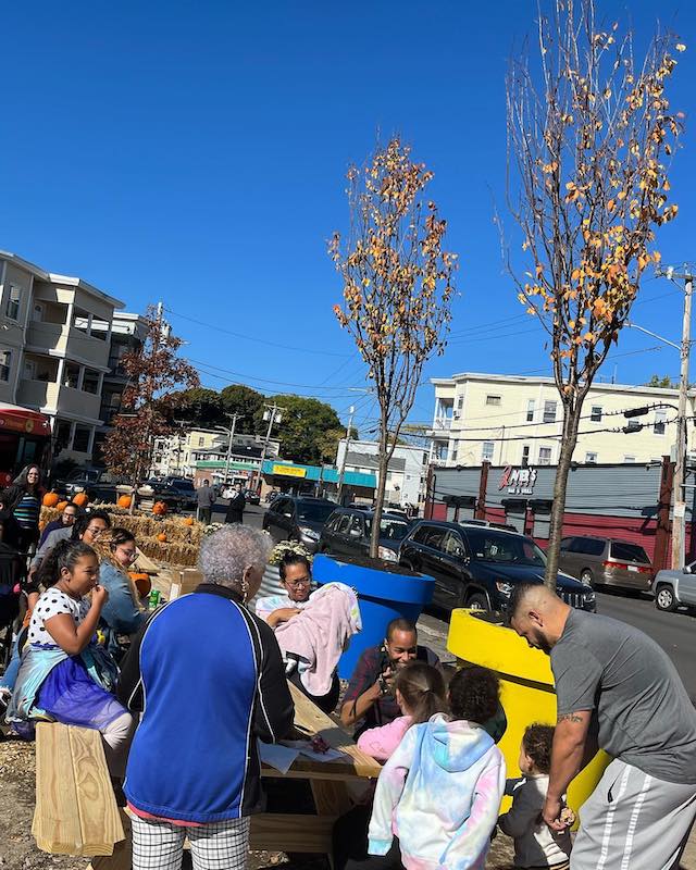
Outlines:
[[[274, 426], [273, 437], [281, 442], [284, 459], [310, 465], [334, 462], [338, 438], [345, 430], [334, 409], [319, 399], [302, 396], [271, 396], [265, 402], [285, 408], [282, 422]], [[256, 431], [265, 434], [263, 408], [256, 415]], [[330, 433], [333, 433], [330, 437]]]

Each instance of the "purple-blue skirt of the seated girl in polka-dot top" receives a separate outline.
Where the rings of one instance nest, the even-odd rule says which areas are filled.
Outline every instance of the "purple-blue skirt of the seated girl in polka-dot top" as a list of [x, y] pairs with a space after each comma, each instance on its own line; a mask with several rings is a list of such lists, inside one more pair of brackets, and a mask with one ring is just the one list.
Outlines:
[[59, 662], [41, 683], [36, 706], [64, 725], [101, 731], [127, 710], [97, 685], [77, 656]]

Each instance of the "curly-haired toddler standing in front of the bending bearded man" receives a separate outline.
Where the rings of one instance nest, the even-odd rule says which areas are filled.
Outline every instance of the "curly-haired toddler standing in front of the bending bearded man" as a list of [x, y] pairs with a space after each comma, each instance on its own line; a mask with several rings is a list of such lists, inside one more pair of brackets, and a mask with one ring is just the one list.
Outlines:
[[[514, 840], [514, 866], [526, 870], [568, 870], [570, 867], [570, 829], [556, 832], [540, 819], [548, 773], [551, 769], [551, 725], [530, 725], [520, 748], [521, 780], [509, 780], [506, 794], [512, 794], [512, 807], [498, 819], [504, 834]], [[510, 791], [509, 791], [510, 788]], [[569, 826], [573, 822], [571, 810]]]

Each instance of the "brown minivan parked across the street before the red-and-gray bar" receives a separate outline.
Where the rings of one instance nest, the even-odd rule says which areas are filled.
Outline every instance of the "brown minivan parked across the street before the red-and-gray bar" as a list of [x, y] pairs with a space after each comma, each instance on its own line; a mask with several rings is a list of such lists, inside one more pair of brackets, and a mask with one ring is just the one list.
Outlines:
[[592, 586], [649, 591], [655, 572], [639, 544], [611, 537], [564, 537], [558, 566]]

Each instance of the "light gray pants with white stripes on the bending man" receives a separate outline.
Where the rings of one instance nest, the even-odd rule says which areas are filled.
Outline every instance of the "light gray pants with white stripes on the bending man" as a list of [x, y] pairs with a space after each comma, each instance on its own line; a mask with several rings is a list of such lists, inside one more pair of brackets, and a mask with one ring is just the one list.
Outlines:
[[696, 816], [696, 785], [612, 761], [580, 809], [571, 870], [670, 870]]

